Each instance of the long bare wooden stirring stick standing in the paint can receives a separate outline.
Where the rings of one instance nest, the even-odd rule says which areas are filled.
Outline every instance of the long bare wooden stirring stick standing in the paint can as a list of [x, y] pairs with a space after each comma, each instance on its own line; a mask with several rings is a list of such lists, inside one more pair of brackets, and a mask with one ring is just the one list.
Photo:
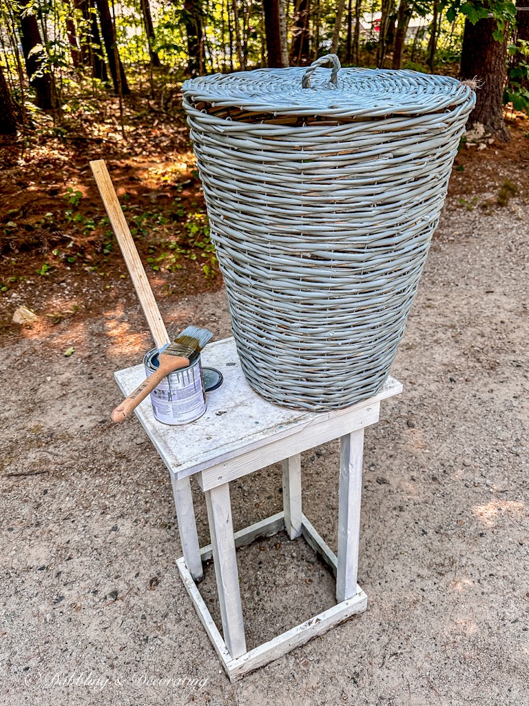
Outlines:
[[107, 164], [105, 164], [104, 160], [95, 160], [90, 162], [90, 167], [104, 208], [107, 210], [110, 225], [123, 253], [123, 260], [127, 265], [130, 279], [133, 281], [147, 324], [154, 338], [154, 344], [158, 349], [162, 348], [166, 343], [170, 343], [171, 339], [162, 321], [162, 315], [158, 309], [156, 299], [154, 299], [154, 294], [152, 294], [138, 250], [130, 234], [121, 205], [119, 205], [118, 196], [114, 189], [114, 184], [112, 184]]

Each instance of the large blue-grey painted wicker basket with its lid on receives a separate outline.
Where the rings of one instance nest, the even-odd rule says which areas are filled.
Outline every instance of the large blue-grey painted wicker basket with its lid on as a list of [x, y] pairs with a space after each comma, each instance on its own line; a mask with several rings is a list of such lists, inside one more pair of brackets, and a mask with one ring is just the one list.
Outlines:
[[384, 384], [475, 103], [454, 78], [339, 68], [183, 85], [241, 364], [288, 407]]

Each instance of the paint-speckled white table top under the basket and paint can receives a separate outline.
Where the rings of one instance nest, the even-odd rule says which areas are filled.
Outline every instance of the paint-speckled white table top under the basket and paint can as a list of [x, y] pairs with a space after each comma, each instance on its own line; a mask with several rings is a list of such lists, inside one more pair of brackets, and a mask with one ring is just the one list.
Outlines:
[[[245, 380], [233, 338], [207, 345], [202, 351], [202, 366], [217, 368], [224, 382], [207, 393], [207, 411], [200, 419], [181, 426], [162, 424], [154, 419], [149, 397], [135, 409], [162, 460], [178, 478], [291, 436], [308, 424], [343, 417], [362, 405], [402, 391], [401, 383], [390, 376], [377, 395], [358, 405], [332, 412], [309, 412], [279, 407], [257, 395]], [[114, 376], [123, 395], [129, 395], [145, 379], [145, 368], [133, 366]]]

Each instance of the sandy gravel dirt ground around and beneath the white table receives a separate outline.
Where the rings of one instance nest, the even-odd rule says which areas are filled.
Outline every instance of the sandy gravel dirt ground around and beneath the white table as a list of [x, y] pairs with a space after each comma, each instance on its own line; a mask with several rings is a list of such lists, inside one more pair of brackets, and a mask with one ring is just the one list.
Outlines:
[[[113, 372], [152, 345], [130, 282], [58, 268], [4, 293], [2, 706], [527, 703], [528, 155], [484, 152], [458, 157], [391, 370], [403, 394], [366, 431], [367, 611], [235, 685], [178, 577], [169, 473], [136, 419], [109, 422]], [[216, 282], [159, 296], [170, 330], [230, 335]], [[32, 328], [11, 324], [22, 304]], [[334, 550], [338, 465], [336, 442], [303, 455], [304, 511]], [[236, 529], [281, 509], [279, 467], [231, 485]], [[238, 566], [250, 647], [333, 603], [301, 539], [257, 542]], [[212, 566], [200, 590], [218, 620]]]

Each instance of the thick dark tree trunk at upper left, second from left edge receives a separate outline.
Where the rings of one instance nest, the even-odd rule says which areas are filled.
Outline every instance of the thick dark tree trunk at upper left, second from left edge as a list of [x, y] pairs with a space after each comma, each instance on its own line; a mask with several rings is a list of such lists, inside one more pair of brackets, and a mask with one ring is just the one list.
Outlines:
[[57, 107], [55, 83], [46, 66], [46, 52], [42, 45], [37, 18], [29, 7], [29, 0], [20, 0], [20, 42], [30, 85], [35, 88], [35, 103], [42, 110]]

